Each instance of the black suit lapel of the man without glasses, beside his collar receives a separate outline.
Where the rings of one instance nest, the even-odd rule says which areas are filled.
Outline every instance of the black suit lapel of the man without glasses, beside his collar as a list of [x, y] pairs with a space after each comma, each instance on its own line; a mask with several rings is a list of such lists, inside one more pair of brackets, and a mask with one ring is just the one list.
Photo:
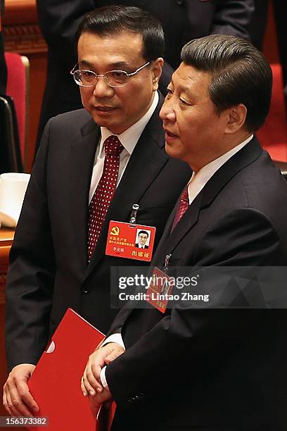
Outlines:
[[160, 239], [160, 243], [158, 244], [155, 256], [153, 257], [152, 265], [162, 266], [164, 264], [166, 254], [172, 254], [172, 251], [174, 251], [181, 239], [196, 225], [200, 216], [200, 210], [209, 206], [215, 199], [215, 196], [221, 192], [231, 178], [247, 165], [253, 163], [260, 154], [262, 154], [262, 147], [257, 142], [257, 139], [253, 138], [243, 149], [229, 158], [227, 163], [224, 163], [224, 165], [217, 170], [215, 175], [210, 178], [205, 187], [203, 187], [198, 196], [196, 196], [196, 199], [191, 203], [174, 230], [170, 232], [177, 205], [174, 207], [169, 220], [167, 220], [167, 225], [163, 232], [162, 239]]

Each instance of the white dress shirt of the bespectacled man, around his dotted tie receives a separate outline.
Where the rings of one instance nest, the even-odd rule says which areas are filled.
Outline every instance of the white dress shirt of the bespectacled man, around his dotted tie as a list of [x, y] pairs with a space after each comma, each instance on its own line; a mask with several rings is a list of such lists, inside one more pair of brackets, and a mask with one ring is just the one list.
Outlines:
[[89, 203], [91, 202], [91, 198], [96, 191], [96, 187], [98, 185], [99, 180], [101, 179], [101, 175], [103, 173], [103, 163], [105, 161], [105, 149], [103, 148], [103, 143], [106, 139], [115, 135], [120, 139], [120, 142], [124, 149], [120, 154], [120, 166], [119, 173], [117, 176], [117, 185], [119, 185], [120, 180], [122, 179], [122, 175], [125, 172], [125, 168], [127, 168], [127, 163], [129, 161], [130, 156], [132, 156], [132, 151], [134, 151], [134, 147], [141, 136], [141, 133], [144, 131], [144, 128], [148, 124], [148, 121], [153, 115], [155, 108], [158, 106], [159, 101], [158, 92], [155, 92], [153, 97], [153, 103], [151, 104], [148, 111], [141, 117], [136, 123], [134, 123], [131, 127], [129, 127], [125, 132], [120, 133], [120, 135], [115, 135], [113, 132], [108, 130], [107, 127], [101, 127], [101, 142], [97, 146], [95, 160], [94, 160], [94, 168], [93, 173], [91, 174], [91, 185], [89, 190]]

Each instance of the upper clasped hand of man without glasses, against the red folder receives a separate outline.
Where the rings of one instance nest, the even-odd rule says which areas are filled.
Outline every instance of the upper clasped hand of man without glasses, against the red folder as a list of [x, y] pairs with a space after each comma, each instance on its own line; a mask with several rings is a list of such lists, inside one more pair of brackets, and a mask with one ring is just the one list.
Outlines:
[[97, 349], [89, 356], [87, 366], [81, 381], [81, 389], [84, 396], [88, 394], [95, 396], [96, 392], [101, 394], [103, 386], [101, 384], [101, 370], [104, 366], [114, 361], [115, 358], [125, 352], [125, 349], [117, 343], [109, 343]]

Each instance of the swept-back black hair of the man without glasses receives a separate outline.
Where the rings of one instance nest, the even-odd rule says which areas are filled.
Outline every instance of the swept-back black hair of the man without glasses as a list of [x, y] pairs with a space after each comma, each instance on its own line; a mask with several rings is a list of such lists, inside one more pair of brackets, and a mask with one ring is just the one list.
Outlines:
[[272, 70], [250, 42], [231, 35], [193, 39], [181, 50], [181, 61], [210, 73], [209, 94], [218, 113], [243, 104], [248, 131], [255, 132], [264, 123], [272, 95]]

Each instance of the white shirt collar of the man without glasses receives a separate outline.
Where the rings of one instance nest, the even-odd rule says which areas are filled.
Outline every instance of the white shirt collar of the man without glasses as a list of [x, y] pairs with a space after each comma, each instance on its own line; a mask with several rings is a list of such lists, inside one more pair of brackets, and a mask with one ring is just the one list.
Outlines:
[[219, 168], [221, 168], [221, 166], [224, 165], [224, 163], [226, 163], [229, 160], [229, 158], [234, 156], [234, 154], [238, 153], [238, 151], [240, 151], [243, 148], [243, 146], [248, 144], [248, 142], [250, 142], [251, 139], [253, 139], [253, 135], [245, 139], [245, 141], [241, 142], [241, 144], [234, 146], [234, 148], [227, 151], [227, 153], [223, 154], [218, 158], [215, 158], [215, 160], [212, 160], [210, 163], [203, 166], [203, 168], [198, 170], [197, 174], [193, 172], [191, 176], [191, 180], [189, 181], [189, 185], [188, 185], [189, 204], [191, 204], [193, 199], [195, 199], [195, 197], [200, 192], [200, 190], [203, 189], [203, 187], [208, 182], [208, 180], [210, 180], [212, 175], [214, 175], [215, 172]]

